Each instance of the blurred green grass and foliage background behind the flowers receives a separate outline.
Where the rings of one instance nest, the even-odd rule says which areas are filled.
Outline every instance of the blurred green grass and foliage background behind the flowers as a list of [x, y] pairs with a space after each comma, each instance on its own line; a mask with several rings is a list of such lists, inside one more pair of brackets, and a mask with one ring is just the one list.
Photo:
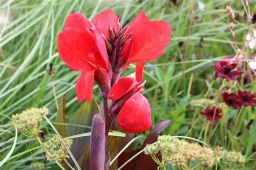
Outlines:
[[[255, 109], [243, 109], [239, 126], [233, 131], [236, 134], [226, 133], [225, 130], [228, 118], [236, 115], [236, 111], [231, 110], [221, 121], [224, 130], [215, 132], [209, 138], [205, 133], [205, 119], [194, 117], [200, 109], [189, 106], [190, 100], [209, 98], [209, 95], [218, 90], [220, 84], [211, 84], [209, 79], [212, 74], [210, 65], [224, 56], [236, 53], [225, 5], [232, 6], [238, 20], [247, 22], [243, 4], [238, 0], [202, 1], [205, 5], [202, 11], [198, 10], [197, 1], [177, 1], [177, 5], [173, 2], [175, 1], [1, 1], [1, 17], [7, 13], [9, 21], [6, 25], [1, 22], [0, 32], [0, 160], [8, 153], [12, 155], [1, 169], [31, 169], [32, 162], [45, 159], [42, 151], [36, 150], [35, 139], [15, 136], [8, 118], [14, 113], [31, 107], [48, 107], [48, 118], [54, 125], [57, 108], [62, 107], [59, 105], [61, 96], [66, 94], [65, 126], [82, 126], [89, 128], [89, 131], [80, 133], [90, 132], [90, 127], [71, 119], [77, 108], [83, 105], [76, 99], [74, 86], [79, 72], [70, 70], [60, 61], [56, 39], [70, 13], [79, 11], [92, 19], [106, 9], [114, 10], [120, 16], [123, 26], [143, 10], [151, 20], [166, 20], [173, 27], [172, 40], [165, 54], [145, 66], [144, 94], [151, 103], [153, 127], [162, 120], [172, 119], [172, 124], [164, 134], [190, 136], [214, 146], [221, 145], [227, 150], [243, 151], [248, 161], [246, 167], [256, 168], [255, 161], [249, 161], [255, 160], [256, 155], [255, 122], [250, 131], [245, 128], [250, 119], [256, 118]], [[253, 1], [251, 9], [255, 10]], [[247, 27], [237, 26], [234, 31], [237, 44], [242, 45]], [[54, 76], [48, 75], [50, 63], [53, 63]], [[129, 75], [134, 70], [135, 65], [131, 65], [126, 74]], [[244, 88], [254, 90], [255, 82]], [[96, 86], [94, 89], [98, 100], [99, 91]], [[59, 119], [61, 117], [57, 120]], [[61, 126], [56, 128], [61, 132]], [[43, 129], [47, 137], [53, 136], [54, 131], [47, 122]], [[242, 134], [237, 137], [239, 131]], [[138, 138], [135, 148], [143, 140], [144, 137]], [[13, 144], [15, 149], [12, 148]], [[23, 152], [26, 153], [20, 154]], [[47, 167], [55, 169], [56, 165], [54, 162], [48, 163]]]

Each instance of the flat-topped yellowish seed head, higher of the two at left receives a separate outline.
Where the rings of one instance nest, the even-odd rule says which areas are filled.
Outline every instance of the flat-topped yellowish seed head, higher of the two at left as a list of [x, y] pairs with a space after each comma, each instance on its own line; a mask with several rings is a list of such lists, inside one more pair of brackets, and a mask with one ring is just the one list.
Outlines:
[[16, 125], [19, 132], [38, 127], [42, 116], [48, 113], [47, 108], [31, 108], [23, 111], [20, 114], [12, 115], [12, 123]]

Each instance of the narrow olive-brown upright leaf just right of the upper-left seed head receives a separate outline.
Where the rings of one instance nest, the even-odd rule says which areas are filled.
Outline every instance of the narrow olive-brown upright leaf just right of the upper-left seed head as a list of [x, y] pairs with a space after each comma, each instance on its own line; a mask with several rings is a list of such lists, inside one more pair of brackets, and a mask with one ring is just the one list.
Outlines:
[[66, 95], [62, 95], [61, 102], [59, 104], [59, 110], [57, 111], [56, 115], [56, 124], [55, 128], [58, 130], [59, 134], [63, 137], [67, 136], [66, 128], [65, 128], [65, 122], [66, 122]]

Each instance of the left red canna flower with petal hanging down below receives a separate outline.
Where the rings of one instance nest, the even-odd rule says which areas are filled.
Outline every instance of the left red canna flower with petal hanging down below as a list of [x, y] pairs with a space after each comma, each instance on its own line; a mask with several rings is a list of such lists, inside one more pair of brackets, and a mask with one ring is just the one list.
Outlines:
[[107, 88], [112, 78], [112, 68], [105, 42], [94, 24], [80, 13], [68, 16], [65, 29], [58, 35], [57, 48], [60, 59], [73, 70], [82, 71], [77, 83], [78, 101], [91, 101], [93, 80]]

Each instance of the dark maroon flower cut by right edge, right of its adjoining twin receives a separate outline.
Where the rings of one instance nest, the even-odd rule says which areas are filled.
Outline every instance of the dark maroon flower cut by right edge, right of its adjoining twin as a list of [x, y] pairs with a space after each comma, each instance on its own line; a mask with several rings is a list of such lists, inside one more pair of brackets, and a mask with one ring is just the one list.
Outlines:
[[251, 94], [246, 90], [238, 90], [238, 102], [245, 107], [249, 105], [256, 107], [256, 94]]

